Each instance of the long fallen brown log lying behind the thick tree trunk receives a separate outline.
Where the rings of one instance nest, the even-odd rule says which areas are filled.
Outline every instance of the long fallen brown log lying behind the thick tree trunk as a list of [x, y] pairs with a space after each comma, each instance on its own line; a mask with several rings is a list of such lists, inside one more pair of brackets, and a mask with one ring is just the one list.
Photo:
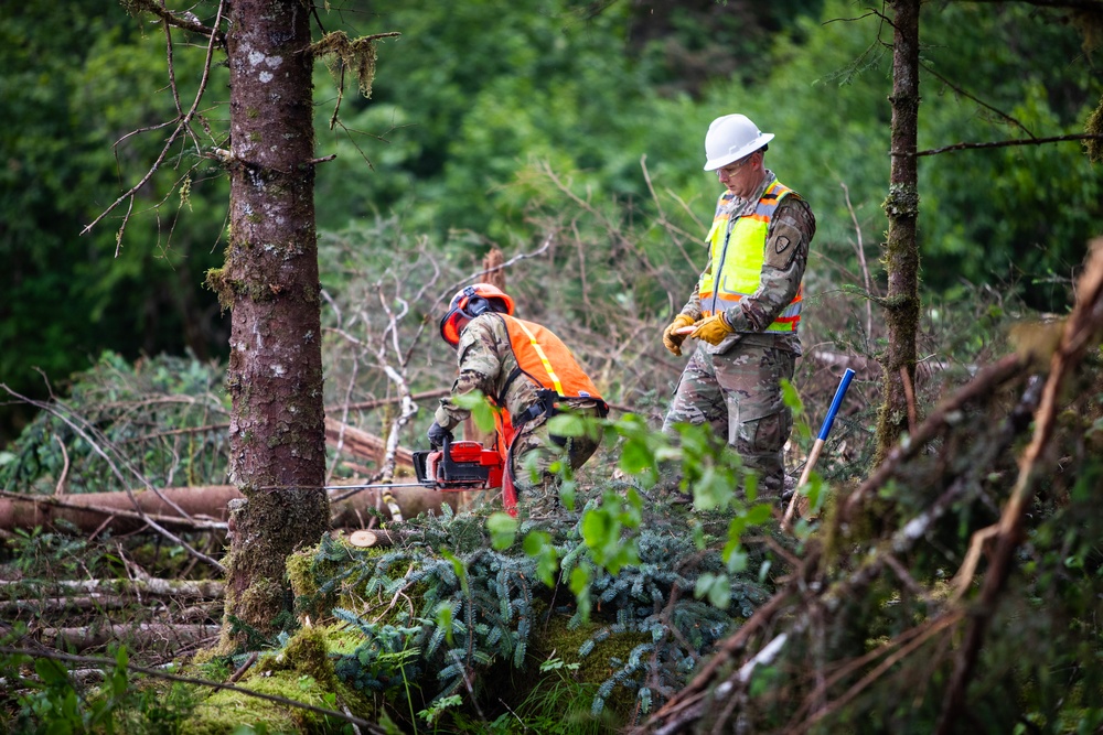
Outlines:
[[[330, 508], [331, 521], [335, 528], [362, 528], [368, 525], [373, 515], [385, 520], [392, 518], [388, 505], [383, 501], [378, 488], [360, 490], [354, 494], [331, 490], [334, 497], [346, 495]], [[227, 505], [231, 500], [244, 498], [232, 485], [208, 485], [203, 487], [168, 487], [156, 493], [137, 490], [133, 493], [142, 514], [154, 518], [158, 523], [183, 530], [224, 530], [229, 520]], [[441, 505], [456, 509], [456, 493], [438, 493], [424, 487], [389, 488], [389, 495], [401, 511], [403, 518], [415, 518], [422, 512], [440, 512]], [[174, 504], [191, 518], [183, 518]], [[0, 491], [0, 529], [14, 530], [58, 528], [66, 525], [90, 533], [110, 529], [115, 533], [140, 530], [146, 526], [141, 514], [135, 510], [133, 501], [127, 493], [82, 493], [56, 498], [50, 495], [25, 495]]]

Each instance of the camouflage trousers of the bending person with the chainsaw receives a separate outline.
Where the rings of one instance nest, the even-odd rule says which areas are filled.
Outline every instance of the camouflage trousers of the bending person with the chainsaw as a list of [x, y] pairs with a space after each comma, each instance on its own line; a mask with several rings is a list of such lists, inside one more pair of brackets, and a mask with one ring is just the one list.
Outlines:
[[[597, 410], [579, 410], [579, 415], [600, 418]], [[559, 509], [559, 475], [552, 465], [566, 458], [571, 471], [578, 469], [598, 451], [600, 434], [591, 436], [552, 436], [547, 421], [537, 419], [522, 428], [513, 441], [513, 484], [517, 501], [529, 514], [547, 515]]]

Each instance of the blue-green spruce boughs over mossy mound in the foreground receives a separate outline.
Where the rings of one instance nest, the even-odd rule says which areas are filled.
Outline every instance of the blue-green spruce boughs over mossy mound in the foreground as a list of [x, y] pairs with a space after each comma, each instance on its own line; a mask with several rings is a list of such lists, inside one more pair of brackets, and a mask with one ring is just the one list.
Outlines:
[[[686, 522], [684, 509], [666, 517], [649, 512], [639, 563], [611, 575], [595, 564], [583, 540], [581, 527], [597, 507], [595, 499], [577, 516], [523, 522], [516, 542], [501, 550], [490, 548], [484, 514], [420, 521], [392, 550], [323, 541], [310, 575], [318, 592], [299, 604], [315, 609], [324, 599], [356, 601], [356, 609], [334, 610], [360, 641], [338, 661], [336, 671], [357, 689], [388, 700], [400, 703], [416, 685], [419, 707], [453, 694], [468, 700], [469, 711], [472, 696], [496, 707], [497, 700], [516, 696], [501, 685], [503, 671], [512, 670], [505, 675], [517, 682], [532, 679], [537, 664], [554, 655], [553, 647], [574, 640], [558, 655], [588, 672], [596, 687], [592, 714], [609, 700], [619, 703], [621, 717], [625, 703], [633, 701], [628, 710], [645, 713], [685, 683], [699, 657], [733, 618], [749, 616], [765, 599], [769, 586], [759, 582], [759, 569], [752, 565], [732, 580], [727, 612], [695, 599], [700, 575], [724, 573], [724, 543], [708, 542], [704, 532], [699, 541], [678, 532]], [[724, 532], [725, 519], [707, 522]], [[540, 581], [539, 554], [522, 548], [528, 545], [522, 539], [534, 533], [550, 544], [544, 553], [561, 558], [552, 586]], [[565, 584], [578, 565], [592, 574], [589, 595], [596, 609], [588, 617], [556, 583], [561, 579]], [[395, 598], [409, 605], [387, 604]], [[602, 645], [614, 640], [621, 642]], [[591, 662], [591, 656], [600, 660]], [[603, 673], [593, 679], [596, 672]]]

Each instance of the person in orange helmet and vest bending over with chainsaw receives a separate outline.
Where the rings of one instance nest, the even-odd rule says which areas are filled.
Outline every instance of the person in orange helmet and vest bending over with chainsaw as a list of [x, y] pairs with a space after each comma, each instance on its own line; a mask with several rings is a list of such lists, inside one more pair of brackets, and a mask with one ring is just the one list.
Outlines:
[[[609, 407], [566, 345], [547, 327], [513, 316], [513, 299], [494, 285], [475, 283], [461, 290], [440, 320], [440, 336], [456, 347], [459, 377], [429, 426], [429, 443], [445, 437], [470, 413], [452, 402], [457, 396], [482, 391], [495, 406], [497, 452], [531, 515], [559, 509], [559, 489], [552, 465], [565, 460], [578, 469], [597, 451], [597, 436], [556, 436], [547, 422], [569, 409], [582, 417], [603, 418]], [[528, 455], [535, 453], [534, 458]], [[535, 460], [536, 472], [528, 463]], [[537, 479], [534, 482], [534, 475]]]

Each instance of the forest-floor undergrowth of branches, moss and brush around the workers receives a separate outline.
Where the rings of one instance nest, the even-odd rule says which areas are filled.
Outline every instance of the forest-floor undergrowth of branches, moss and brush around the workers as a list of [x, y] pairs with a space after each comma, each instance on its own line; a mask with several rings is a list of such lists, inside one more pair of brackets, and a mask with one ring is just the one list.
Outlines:
[[[331, 242], [338, 251], [362, 252], [342, 237]], [[447, 295], [445, 281], [463, 274], [441, 271], [431, 289], [405, 294], [405, 266], [360, 257], [342, 261], [345, 280], [329, 294], [328, 414], [400, 431], [417, 446], [424, 426], [398, 423], [397, 399], [447, 385], [452, 368], [421, 336], [432, 306], [411, 304]], [[538, 258], [517, 262], [550, 278]], [[382, 277], [360, 275], [372, 269]], [[930, 305], [913, 429], [876, 468], [882, 335], [865, 296], [821, 287], [790, 391], [792, 476], [842, 368], [858, 377], [803, 488], [813, 515], [792, 529], [781, 508], [735, 493], [738, 458], [715, 439], [687, 430], [674, 448], [653, 431], [676, 364], [629, 335], [653, 337], [664, 314], [617, 312], [609, 329], [625, 347], [610, 353], [570, 309], [523, 296], [565, 339], [603, 355], [607, 374], [630, 376], [608, 383], [614, 412], [588, 429], [606, 433], [603, 450], [566, 478], [568, 512], [513, 520], [493, 504], [446, 506], [397, 523], [382, 508], [367, 514], [362, 526], [387, 543], [356, 547], [349, 528], [298, 554], [282, 633], [243, 630], [247, 649], [225, 658], [195, 656], [224, 623], [227, 529], [216, 518], [191, 518], [203, 528], [152, 516], [127, 530], [107, 517], [90, 530], [4, 528], [0, 723], [128, 733], [1099, 732], [1103, 380], [1090, 285], [1080, 285], [1079, 312], [1051, 322], [983, 291], [952, 309]], [[372, 299], [388, 309], [367, 309]], [[1062, 347], [1070, 324], [1081, 336]], [[394, 347], [388, 334], [400, 335]], [[4, 450], [0, 501], [224, 483], [221, 380], [221, 366], [190, 358], [104, 356]], [[654, 493], [662, 461], [682, 463], [695, 506]], [[335, 480], [371, 479], [377, 467], [362, 462], [330, 448]]]

